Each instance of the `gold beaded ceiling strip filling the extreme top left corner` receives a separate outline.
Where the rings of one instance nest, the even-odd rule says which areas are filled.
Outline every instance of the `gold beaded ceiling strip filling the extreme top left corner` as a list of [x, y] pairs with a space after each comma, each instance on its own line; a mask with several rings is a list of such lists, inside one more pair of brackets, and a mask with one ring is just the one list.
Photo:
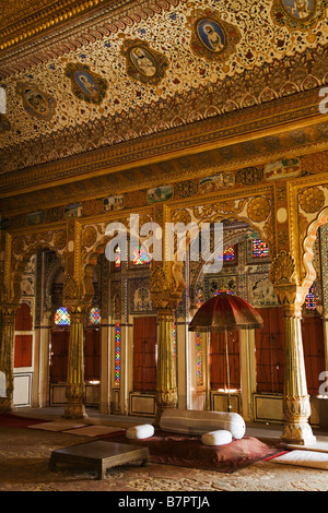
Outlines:
[[[115, 0], [0, 0], [0, 50], [5, 50]], [[121, 3], [121, 2], [120, 2]]]

